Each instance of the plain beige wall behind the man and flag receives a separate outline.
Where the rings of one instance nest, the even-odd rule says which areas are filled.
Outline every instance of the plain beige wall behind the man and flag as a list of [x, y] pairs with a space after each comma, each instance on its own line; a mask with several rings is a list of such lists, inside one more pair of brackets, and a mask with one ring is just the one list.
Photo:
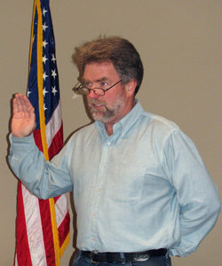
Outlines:
[[[0, 2], [0, 265], [7, 266], [13, 262], [17, 180], [6, 164], [6, 136], [12, 94], [26, 92], [33, 1]], [[144, 62], [142, 105], [176, 121], [194, 140], [221, 192], [221, 5], [219, 0], [51, 1], [65, 137], [89, 121], [82, 99], [72, 99], [74, 46], [98, 35], [122, 35]], [[173, 259], [173, 265], [220, 265], [219, 223], [221, 219], [198, 251]], [[72, 253], [70, 244], [61, 266], [68, 265]]]

